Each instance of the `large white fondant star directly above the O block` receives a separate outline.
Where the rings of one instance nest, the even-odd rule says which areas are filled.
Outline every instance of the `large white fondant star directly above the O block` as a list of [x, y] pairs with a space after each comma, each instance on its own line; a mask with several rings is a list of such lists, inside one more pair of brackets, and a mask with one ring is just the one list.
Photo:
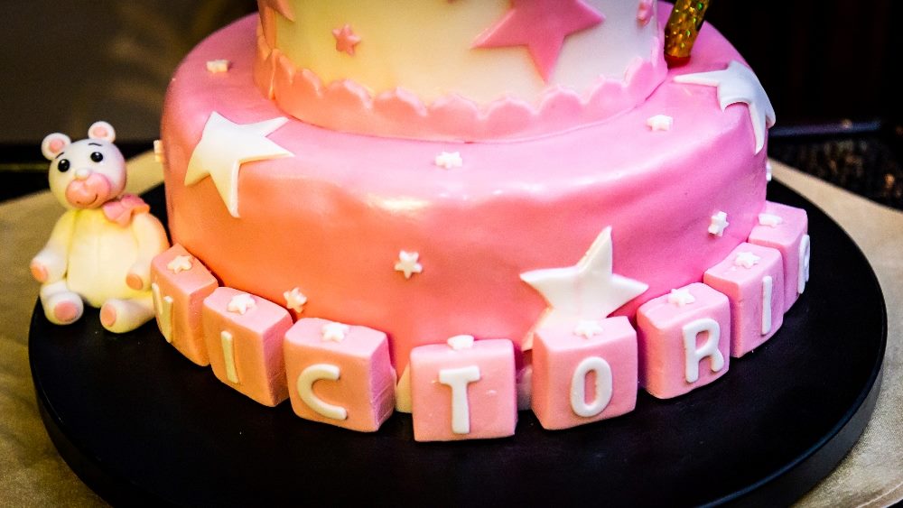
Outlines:
[[521, 280], [539, 291], [551, 307], [544, 320], [560, 318], [562, 313], [578, 319], [606, 318], [649, 288], [612, 272], [611, 249], [609, 226], [577, 264], [520, 274]]

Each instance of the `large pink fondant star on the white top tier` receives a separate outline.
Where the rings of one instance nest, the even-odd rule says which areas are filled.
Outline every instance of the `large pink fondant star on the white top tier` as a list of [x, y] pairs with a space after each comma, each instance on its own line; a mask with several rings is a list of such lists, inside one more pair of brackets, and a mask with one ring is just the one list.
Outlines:
[[511, 10], [477, 37], [475, 48], [526, 46], [545, 81], [562, 51], [564, 38], [605, 21], [582, 0], [511, 0]]

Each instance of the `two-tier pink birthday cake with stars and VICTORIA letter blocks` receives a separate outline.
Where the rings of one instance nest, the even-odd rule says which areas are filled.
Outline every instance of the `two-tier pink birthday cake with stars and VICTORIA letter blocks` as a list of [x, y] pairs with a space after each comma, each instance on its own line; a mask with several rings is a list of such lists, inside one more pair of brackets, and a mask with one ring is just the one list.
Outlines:
[[163, 337], [302, 419], [565, 429], [715, 382], [808, 273], [774, 111], [648, 0], [260, 0], [172, 79]]

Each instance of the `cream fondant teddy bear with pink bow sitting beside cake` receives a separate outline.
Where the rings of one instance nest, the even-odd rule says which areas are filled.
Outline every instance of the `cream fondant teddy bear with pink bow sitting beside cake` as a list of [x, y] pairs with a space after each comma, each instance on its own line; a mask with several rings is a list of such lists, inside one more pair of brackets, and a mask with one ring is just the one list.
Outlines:
[[126, 160], [106, 122], [72, 143], [50, 134], [41, 143], [51, 161], [51, 193], [69, 208], [31, 269], [42, 282], [41, 305], [51, 323], [81, 317], [84, 302], [100, 308], [107, 330], [122, 333], [154, 317], [151, 260], [169, 247], [163, 225], [137, 196], [125, 194]]

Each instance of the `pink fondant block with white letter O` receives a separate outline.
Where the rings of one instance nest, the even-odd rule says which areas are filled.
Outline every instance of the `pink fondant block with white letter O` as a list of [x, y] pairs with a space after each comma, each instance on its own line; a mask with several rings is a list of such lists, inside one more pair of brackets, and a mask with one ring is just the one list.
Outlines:
[[536, 418], [545, 429], [567, 429], [633, 411], [637, 361], [637, 332], [623, 316], [539, 328], [533, 343]]

